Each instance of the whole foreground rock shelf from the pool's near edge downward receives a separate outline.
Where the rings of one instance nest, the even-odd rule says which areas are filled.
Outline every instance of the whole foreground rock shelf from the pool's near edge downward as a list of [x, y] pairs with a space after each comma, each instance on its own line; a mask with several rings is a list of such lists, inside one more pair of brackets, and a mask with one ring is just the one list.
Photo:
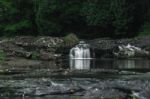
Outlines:
[[32, 69], [5, 72], [0, 78], [2, 99], [149, 99], [149, 91], [150, 73], [116, 70]]

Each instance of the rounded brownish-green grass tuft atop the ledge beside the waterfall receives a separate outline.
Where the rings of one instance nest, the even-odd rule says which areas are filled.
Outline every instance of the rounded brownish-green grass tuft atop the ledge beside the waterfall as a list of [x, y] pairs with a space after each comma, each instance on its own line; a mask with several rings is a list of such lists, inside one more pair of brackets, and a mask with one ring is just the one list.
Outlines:
[[70, 33], [63, 38], [64, 44], [67, 46], [72, 46], [78, 43], [79, 39], [74, 33]]

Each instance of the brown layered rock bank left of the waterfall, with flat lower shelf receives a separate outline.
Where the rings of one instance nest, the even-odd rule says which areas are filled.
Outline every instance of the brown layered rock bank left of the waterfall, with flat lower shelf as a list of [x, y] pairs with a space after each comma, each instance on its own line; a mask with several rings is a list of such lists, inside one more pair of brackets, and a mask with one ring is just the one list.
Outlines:
[[[31, 37], [22, 36], [12, 39], [0, 39], [0, 50], [4, 54], [0, 70], [7, 68], [47, 67], [58, 69], [63, 65], [62, 59], [69, 55], [64, 54], [63, 39], [58, 37]], [[67, 49], [65, 48], [65, 51]], [[65, 56], [65, 57], [64, 57]], [[1, 61], [1, 60], [0, 60]]]

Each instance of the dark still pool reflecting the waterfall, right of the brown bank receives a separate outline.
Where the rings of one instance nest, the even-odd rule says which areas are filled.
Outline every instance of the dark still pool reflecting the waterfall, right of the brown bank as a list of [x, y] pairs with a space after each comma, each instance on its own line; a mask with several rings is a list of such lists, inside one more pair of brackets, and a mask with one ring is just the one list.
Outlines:
[[70, 69], [150, 69], [150, 60], [70, 59]]

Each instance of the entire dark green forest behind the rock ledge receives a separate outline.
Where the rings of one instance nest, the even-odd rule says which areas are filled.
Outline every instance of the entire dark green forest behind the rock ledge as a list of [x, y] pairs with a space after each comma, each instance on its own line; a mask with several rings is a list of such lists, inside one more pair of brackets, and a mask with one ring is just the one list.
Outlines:
[[149, 17], [149, 0], [0, 0], [0, 36], [134, 37]]

